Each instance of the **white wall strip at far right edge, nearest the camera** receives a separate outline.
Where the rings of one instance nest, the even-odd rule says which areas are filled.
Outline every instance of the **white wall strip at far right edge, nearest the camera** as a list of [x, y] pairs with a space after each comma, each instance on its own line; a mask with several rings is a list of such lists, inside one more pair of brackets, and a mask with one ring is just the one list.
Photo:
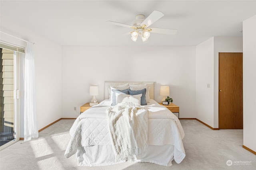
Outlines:
[[243, 21], [244, 146], [256, 152], [256, 16]]

